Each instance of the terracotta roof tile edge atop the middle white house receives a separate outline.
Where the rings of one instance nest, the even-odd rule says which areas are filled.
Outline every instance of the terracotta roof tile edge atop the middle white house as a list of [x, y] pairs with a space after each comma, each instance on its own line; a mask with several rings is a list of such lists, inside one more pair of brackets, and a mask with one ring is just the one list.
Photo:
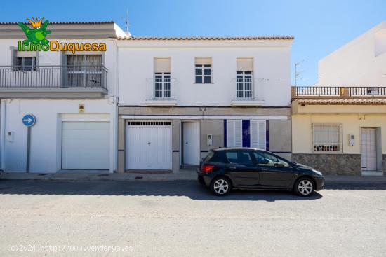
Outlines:
[[120, 40], [293, 40], [293, 36], [131, 36]]

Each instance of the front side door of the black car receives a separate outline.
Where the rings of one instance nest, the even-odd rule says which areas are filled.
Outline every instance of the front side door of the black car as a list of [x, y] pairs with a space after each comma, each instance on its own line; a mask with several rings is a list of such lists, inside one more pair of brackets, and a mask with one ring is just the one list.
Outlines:
[[295, 172], [289, 162], [266, 151], [253, 151], [260, 174], [262, 188], [288, 188]]

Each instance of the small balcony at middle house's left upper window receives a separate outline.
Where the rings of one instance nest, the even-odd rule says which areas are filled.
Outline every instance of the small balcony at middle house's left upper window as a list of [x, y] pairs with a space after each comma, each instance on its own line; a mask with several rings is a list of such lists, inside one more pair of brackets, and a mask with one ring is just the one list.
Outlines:
[[148, 78], [146, 80], [146, 105], [147, 106], [175, 106], [176, 80], [174, 78]]

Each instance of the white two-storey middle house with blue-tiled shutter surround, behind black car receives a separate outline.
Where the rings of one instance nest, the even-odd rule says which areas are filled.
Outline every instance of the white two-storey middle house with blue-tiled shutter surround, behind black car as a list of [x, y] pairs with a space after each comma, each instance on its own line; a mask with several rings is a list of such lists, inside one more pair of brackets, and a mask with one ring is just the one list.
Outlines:
[[118, 172], [177, 172], [219, 147], [291, 158], [292, 42], [292, 36], [118, 39]]

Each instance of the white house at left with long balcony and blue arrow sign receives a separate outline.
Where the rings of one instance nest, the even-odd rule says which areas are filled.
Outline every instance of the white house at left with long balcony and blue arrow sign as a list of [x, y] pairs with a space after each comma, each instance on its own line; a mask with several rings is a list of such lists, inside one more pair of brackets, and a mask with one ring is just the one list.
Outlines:
[[[51, 42], [105, 48], [22, 51], [19, 41], [27, 37], [21, 27], [0, 23], [1, 169], [114, 172], [116, 39], [126, 34], [114, 22], [51, 22], [47, 29]], [[31, 117], [36, 120], [28, 129], [23, 122], [29, 125]]]

